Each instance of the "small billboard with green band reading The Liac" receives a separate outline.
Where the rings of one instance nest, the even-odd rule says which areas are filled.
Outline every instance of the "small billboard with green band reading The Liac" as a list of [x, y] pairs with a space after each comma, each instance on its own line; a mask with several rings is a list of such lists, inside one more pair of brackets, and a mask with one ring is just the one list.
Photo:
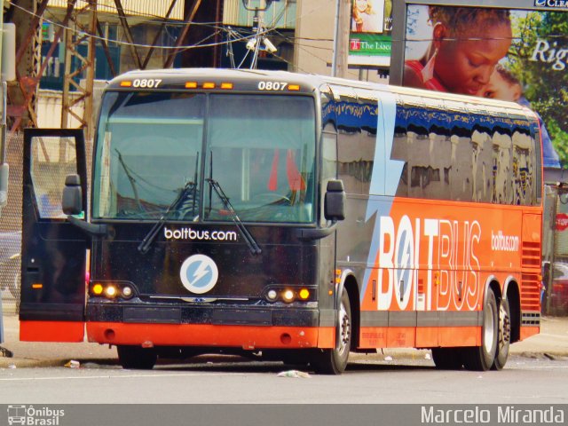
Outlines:
[[392, 0], [351, 0], [350, 65], [388, 67]]

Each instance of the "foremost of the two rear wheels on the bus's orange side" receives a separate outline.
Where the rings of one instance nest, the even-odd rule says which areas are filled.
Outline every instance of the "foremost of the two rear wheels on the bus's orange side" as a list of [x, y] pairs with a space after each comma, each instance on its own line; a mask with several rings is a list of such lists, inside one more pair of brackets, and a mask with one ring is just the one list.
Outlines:
[[497, 353], [497, 339], [499, 337], [497, 300], [491, 288], [487, 292], [483, 307], [481, 346], [473, 346], [464, 350], [463, 365], [468, 370], [487, 371], [493, 366]]

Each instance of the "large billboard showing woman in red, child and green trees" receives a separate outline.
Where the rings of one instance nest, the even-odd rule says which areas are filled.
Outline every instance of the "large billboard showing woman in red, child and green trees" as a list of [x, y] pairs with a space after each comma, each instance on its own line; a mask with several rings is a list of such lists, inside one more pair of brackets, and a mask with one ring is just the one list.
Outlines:
[[530, 106], [541, 117], [545, 167], [568, 164], [566, 9], [429, 3], [406, 4], [391, 83]]

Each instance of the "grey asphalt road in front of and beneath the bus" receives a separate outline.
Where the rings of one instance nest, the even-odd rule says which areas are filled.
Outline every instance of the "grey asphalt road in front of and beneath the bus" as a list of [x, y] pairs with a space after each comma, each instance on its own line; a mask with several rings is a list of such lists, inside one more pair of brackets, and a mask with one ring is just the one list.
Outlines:
[[423, 359], [352, 362], [340, 376], [280, 377], [280, 363], [198, 359], [151, 371], [0, 369], [4, 404], [568, 404], [568, 359], [513, 356], [500, 372], [440, 371]]

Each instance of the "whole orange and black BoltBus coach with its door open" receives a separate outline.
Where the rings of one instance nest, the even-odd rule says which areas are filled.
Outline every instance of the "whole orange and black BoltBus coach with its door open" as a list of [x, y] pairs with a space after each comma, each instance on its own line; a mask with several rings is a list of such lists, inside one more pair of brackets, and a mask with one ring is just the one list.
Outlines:
[[22, 340], [338, 374], [398, 347], [500, 369], [539, 332], [540, 130], [522, 106], [136, 71], [108, 83], [92, 148], [81, 130], [25, 139]]

